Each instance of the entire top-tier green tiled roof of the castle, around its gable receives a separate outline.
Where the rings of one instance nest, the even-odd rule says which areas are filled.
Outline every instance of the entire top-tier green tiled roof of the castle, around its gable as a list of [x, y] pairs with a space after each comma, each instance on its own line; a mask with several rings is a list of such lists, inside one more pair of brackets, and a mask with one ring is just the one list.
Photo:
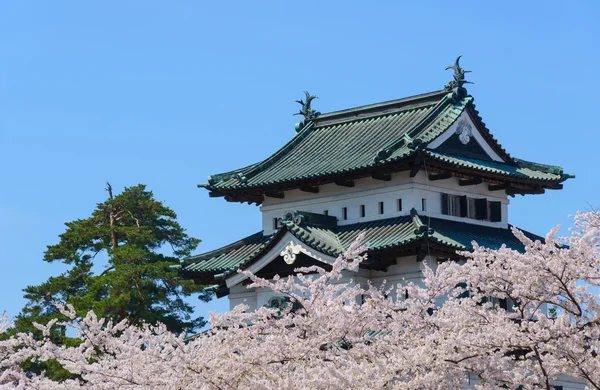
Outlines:
[[[465, 111], [505, 163], [487, 162], [422, 150]], [[343, 175], [368, 176], [411, 159], [431, 158], [445, 167], [482, 175], [558, 183], [562, 168], [512, 158], [491, 135], [466, 96], [453, 103], [444, 91], [323, 114], [265, 160], [209, 177], [201, 184], [215, 195], [261, 193], [266, 188], [297, 188], [311, 181], [331, 182]], [[525, 165], [524, 165], [525, 164]], [[538, 183], [539, 184], [539, 183]], [[241, 200], [248, 200], [242, 196]]]

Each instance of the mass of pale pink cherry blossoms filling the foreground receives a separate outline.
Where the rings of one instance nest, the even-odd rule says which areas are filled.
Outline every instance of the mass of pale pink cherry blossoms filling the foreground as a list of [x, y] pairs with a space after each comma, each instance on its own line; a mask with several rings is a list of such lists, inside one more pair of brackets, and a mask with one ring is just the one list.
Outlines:
[[[330, 270], [246, 273], [250, 288], [290, 304], [212, 314], [211, 330], [191, 339], [59, 307], [81, 343], [0, 342], [0, 387], [551, 389], [567, 375], [600, 389], [600, 215], [574, 222], [569, 237], [557, 238], [557, 227], [545, 242], [515, 229], [523, 252], [475, 246], [464, 261], [424, 265], [422, 283], [402, 288], [341, 283], [365, 258], [359, 236]], [[53, 325], [37, 327], [49, 334]], [[26, 359], [56, 359], [77, 379], [28, 376], [18, 366]]]

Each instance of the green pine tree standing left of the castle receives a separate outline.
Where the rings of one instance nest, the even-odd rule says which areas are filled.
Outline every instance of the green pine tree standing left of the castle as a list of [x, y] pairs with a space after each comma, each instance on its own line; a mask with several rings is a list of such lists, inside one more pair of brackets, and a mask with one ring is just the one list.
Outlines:
[[[69, 269], [24, 290], [28, 303], [15, 319], [16, 331], [33, 331], [33, 321], [64, 320], [57, 302], [73, 305], [80, 315], [93, 310], [135, 326], [160, 322], [175, 333], [204, 325], [202, 318], [192, 318], [193, 307], [184, 298], [210, 296], [202, 286], [179, 280], [172, 268], [200, 241], [189, 237], [175, 212], [144, 185], [113, 195], [107, 183], [106, 190], [108, 199], [90, 217], [67, 222], [59, 242], [48, 246], [44, 260]], [[64, 341], [64, 327], [56, 326], [52, 337], [59, 344]]]

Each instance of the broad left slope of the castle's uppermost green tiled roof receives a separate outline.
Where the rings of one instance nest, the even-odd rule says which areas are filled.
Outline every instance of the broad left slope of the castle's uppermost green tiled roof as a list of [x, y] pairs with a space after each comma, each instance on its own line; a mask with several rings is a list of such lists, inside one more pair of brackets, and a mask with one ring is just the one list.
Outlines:
[[375, 166], [374, 157], [382, 148], [402, 141], [404, 134], [437, 114], [443, 96], [438, 95], [384, 115], [351, 120], [323, 115], [266, 160], [213, 175], [206, 187], [259, 188]]

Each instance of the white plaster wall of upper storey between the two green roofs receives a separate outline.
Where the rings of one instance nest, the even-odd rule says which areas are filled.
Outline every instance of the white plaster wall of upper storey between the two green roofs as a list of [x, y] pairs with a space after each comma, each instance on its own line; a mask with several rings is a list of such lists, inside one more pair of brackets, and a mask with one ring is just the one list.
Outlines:
[[[321, 214], [325, 210], [329, 215], [338, 218], [339, 225], [367, 222], [377, 219], [408, 215], [414, 207], [419, 214], [469, 222], [476, 225], [508, 227], [509, 200], [503, 191], [489, 191], [487, 183], [464, 186], [458, 185], [456, 177], [430, 181], [424, 170], [414, 178], [408, 172], [392, 175], [389, 182], [363, 178], [355, 180], [354, 187], [341, 187], [326, 184], [319, 187], [319, 193], [307, 193], [300, 190], [285, 192], [284, 199], [266, 197], [261, 207], [263, 231], [271, 234], [274, 230], [273, 220], [281, 218], [286, 211], [300, 210]], [[453, 217], [441, 213], [441, 194], [467, 195], [471, 198], [487, 198], [502, 203], [502, 221], [478, 221], [469, 218]], [[423, 211], [421, 200], [425, 198], [427, 210]], [[398, 199], [402, 199], [402, 211], [398, 210]], [[379, 214], [379, 202], [384, 203], [384, 213]], [[365, 205], [365, 217], [360, 217], [360, 206]], [[342, 208], [348, 210], [348, 219], [342, 220]]]

